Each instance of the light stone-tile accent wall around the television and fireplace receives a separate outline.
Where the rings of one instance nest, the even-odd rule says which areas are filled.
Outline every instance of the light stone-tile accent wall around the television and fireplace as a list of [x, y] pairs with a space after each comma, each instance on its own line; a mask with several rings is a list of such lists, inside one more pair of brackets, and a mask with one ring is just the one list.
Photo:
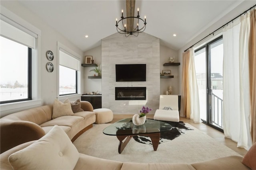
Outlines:
[[[147, 33], [102, 39], [102, 108], [114, 114], [139, 113], [148, 106], [154, 114], [160, 95], [160, 39]], [[146, 82], [116, 82], [116, 64], [146, 64]], [[115, 100], [115, 87], [146, 87], [147, 100]]]

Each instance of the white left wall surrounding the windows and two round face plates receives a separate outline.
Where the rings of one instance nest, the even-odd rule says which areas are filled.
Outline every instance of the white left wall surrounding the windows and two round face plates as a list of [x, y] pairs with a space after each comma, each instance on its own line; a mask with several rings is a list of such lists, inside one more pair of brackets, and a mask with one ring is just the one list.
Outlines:
[[[41, 94], [41, 105], [52, 104], [54, 99], [57, 97], [57, 41], [70, 48], [72, 51], [83, 56], [83, 52], [78, 49], [75, 45], [73, 45], [68, 39], [66, 39], [63, 35], [61, 35], [58, 31], [52, 29], [49, 25], [47, 25], [44, 21], [41, 20], [34, 13], [30, 12], [30, 10], [26, 9], [22, 6], [18, 1], [1, 1], [1, 7], [4, 6], [6, 9], [10, 10], [20, 18], [28, 21], [30, 24], [34, 25], [38, 29], [41, 30], [41, 51], [38, 56], [40, 57], [40, 94]], [[54, 53], [54, 60], [52, 63], [54, 64], [54, 71], [49, 73], [46, 70], [46, 63], [48, 62], [46, 58], [46, 51], [52, 51]], [[81, 59], [82, 60], [82, 59]], [[81, 71], [83, 68], [81, 69]], [[81, 86], [83, 86], [83, 72], [81, 79]], [[83, 89], [82, 89], [83, 92]], [[75, 98], [70, 98], [70, 100], [75, 100]], [[14, 113], [16, 111], [28, 109], [30, 107], [36, 106], [28, 106], [28, 107], [20, 107], [18, 109], [10, 109], [6, 111], [1, 111], [1, 117], [10, 113]]]

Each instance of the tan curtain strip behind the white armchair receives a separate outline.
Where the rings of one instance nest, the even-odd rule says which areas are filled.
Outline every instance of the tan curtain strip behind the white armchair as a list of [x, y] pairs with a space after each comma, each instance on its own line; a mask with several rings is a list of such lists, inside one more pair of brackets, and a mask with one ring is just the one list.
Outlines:
[[181, 108], [180, 116], [187, 117], [190, 119], [190, 92], [189, 92], [189, 60], [190, 60], [190, 51], [185, 51], [182, 54], [182, 95], [181, 95]]

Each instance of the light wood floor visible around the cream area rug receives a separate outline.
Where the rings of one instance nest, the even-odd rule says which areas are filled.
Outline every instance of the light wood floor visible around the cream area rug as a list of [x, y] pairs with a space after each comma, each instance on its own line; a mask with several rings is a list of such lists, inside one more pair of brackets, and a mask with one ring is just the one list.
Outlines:
[[[119, 121], [120, 119], [125, 119], [125, 118], [129, 118], [132, 117], [133, 115], [114, 115], [114, 119], [110, 122], [110, 123], [114, 123], [116, 121]], [[153, 119], [154, 115], [147, 115], [147, 118], [149, 119]], [[247, 150], [243, 149], [243, 148], [238, 148], [236, 147], [237, 143], [232, 141], [231, 139], [227, 139], [224, 138], [224, 134], [204, 123], [194, 123], [194, 121], [190, 120], [190, 119], [186, 119], [184, 117], [180, 117], [180, 121], [183, 121], [184, 123], [189, 123], [190, 125], [196, 127], [197, 129], [199, 129], [200, 131], [202, 131], [203, 133], [205, 133], [206, 135], [212, 137], [213, 139], [219, 141], [220, 143], [222, 143], [223, 145], [226, 145], [227, 147], [229, 147], [230, 149], [234, 150], [235, 152], [237, 152], [238, 154], [244, 156], [247, 152]]]

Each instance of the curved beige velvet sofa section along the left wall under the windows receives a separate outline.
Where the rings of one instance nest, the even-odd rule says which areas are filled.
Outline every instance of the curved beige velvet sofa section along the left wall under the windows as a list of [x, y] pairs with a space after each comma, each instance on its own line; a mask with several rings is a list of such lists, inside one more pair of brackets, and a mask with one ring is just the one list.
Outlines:
[[[55, 102], [55, 101], [54, 101]], [[46, 105], [12, 113], [0, 119], [1, 153], [28, 141], [38, 140], [54, 125], [64, 130], [73, 142], [84, 131], [92, 127], [96, 116], [90, 102], [79, 101], [84, 111], [52, 119], [53, 105]]]

